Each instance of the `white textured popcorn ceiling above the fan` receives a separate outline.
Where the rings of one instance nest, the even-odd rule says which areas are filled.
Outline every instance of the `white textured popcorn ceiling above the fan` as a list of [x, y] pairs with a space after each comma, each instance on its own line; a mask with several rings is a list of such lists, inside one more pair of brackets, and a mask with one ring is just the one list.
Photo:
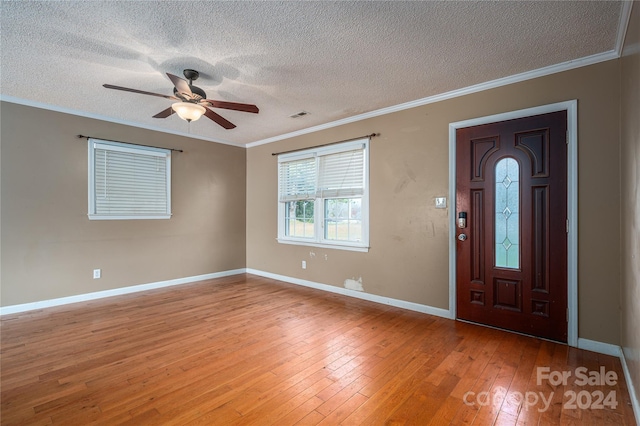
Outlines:
[[[2, 1], [0, 93], [212, 141], [262, 143], [484, 82], [614, 52], [623, 2]], [[580, 61], [577, 61], [580, 62]], [[260, 113], [152, 116], [167, 72]], [[302, 118], [289, 116], [299, 111]], [[375, 130], [375, 129], [372, 129]]]

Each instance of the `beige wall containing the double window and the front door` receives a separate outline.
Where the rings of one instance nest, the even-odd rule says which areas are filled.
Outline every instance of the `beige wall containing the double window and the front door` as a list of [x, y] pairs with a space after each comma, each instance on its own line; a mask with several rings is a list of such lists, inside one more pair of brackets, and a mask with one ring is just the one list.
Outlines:
[[[362, 277], [366, 292], [447, 309], [448, 211], [434, 198], [448, 195], [449, 123], [577, 99], [579, 336], [619, 344], [619, 90], [609, 61], [250, 148], [247, 267], [333, 286]], [[372, 132], [369, 253], [278, 244], [271, 153]]]

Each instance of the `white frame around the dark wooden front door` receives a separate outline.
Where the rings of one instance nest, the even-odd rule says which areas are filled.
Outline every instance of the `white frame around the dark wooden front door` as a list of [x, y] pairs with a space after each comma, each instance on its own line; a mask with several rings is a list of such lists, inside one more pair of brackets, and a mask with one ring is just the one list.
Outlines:
[[456, 130], [567, 111], [567, 344], [578, 346], [578, 101], [577, 99], [449, 123], [449, 315], [456, 312]]

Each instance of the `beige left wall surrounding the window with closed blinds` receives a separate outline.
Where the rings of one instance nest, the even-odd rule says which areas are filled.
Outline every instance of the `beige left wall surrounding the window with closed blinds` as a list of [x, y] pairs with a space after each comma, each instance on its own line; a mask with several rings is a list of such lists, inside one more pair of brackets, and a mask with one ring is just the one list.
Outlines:
[[[2, 306], [244, 268], [245, 149], [6, 102], [0, 113]], [[78, 134], [184, 149], [173, 217], [89, 221]]]

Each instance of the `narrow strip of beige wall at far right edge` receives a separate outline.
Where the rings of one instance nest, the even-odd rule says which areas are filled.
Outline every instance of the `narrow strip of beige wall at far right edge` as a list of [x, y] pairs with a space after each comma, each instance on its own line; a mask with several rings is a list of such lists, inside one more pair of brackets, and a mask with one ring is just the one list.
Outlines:
[[[640, 3], [635, 2], [621, 59], [621, 345], [640, 396]], [[637, 413], [640, 416], [640, 413]]]

